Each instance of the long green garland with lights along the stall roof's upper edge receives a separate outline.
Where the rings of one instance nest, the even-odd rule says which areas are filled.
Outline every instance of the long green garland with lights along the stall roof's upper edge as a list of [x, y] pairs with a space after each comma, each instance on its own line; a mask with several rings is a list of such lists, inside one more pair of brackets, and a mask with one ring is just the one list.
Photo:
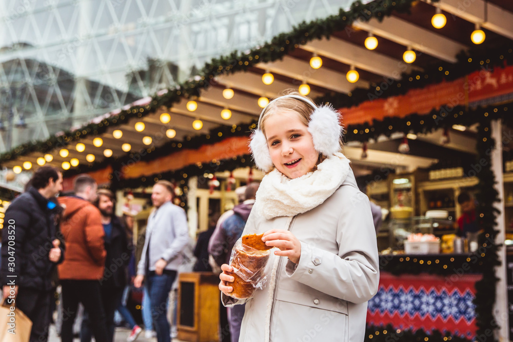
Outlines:
[[379, 0], [369, 4], [357, 1], [351, 5], [348, 11], [340, 9], [339, 14], [331, 15], [324, 19], [317, 19], [310, 23], [301, 23], [290, 32], [281, 33], [271, 39], [271, 42], [262, 47], [255, 48], [249, 53], [233, 51], [227, 56], [213, 58], [201, 69], [199, 79], [186, 81], [179, 86], [168, 89], [163, 95], [154, 95], [151, 103], [146, 106], [133, 106], [112, 117], [104, 119], [98, 124], [89, 124], [75, 131], [67, 131], [59, 137], [51, 137], [44, 142], [29, 142], [16, 147], [12, 151], [0, 155], [0, 163], [26, 155], [32, 152], [46, 153], [55, 148], [65, 148], [73, 140], [88, 134], [98, 135], [104, 133], [109, 125], [120, 125], [128, 122], [133, 117], [143, 117], [154, 113], [158, 108], [172, 107], [182, 98], [200, 96], [201, 91], [214, 84], [215, 76], [233, 72], [245, 71], [257, 63], [277, 61], [289, 51], [298, 48], [314, 39], [329, 36], [336, 31], [344, 29], [356, 19], [368, 21], [377, 18], [380, 21], [389, 16], [392, 11], [407, 13], [415, 0]]

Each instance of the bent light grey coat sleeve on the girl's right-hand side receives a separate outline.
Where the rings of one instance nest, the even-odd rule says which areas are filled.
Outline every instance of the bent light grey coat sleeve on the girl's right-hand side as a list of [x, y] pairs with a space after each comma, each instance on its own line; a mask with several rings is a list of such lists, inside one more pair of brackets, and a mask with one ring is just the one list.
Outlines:
[[286, 273], [311, 288], [359, 304], [378, 291], [378, 247], [368, 197], [361, 192], [350, 197], [338, 221], [338, 255], [302, 242], [298, 265], [289, 260]]

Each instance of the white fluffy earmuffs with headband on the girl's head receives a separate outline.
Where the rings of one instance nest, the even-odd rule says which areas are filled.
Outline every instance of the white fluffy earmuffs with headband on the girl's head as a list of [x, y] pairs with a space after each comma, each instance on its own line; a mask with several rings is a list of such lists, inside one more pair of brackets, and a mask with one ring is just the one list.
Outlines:
[[331, 105], [316, 106], [309, 99], [299, 95], [284, 95], [272, 100], [260, 114], [258, 128], [251, 134], [249, 147], [257, 168], [264, 172], [269, 172], [273, 166], [267, 139], [260, 129], [260, 121], [269, 105], [277, 99], [291, 97], [301, 100], [314, 108], [308, 124], [308, 132], [312, 135], [313, 147], [317, 152], [330, 156], [340, 149], [340, 137], [342, 127], [339, 124], [339, 113]]

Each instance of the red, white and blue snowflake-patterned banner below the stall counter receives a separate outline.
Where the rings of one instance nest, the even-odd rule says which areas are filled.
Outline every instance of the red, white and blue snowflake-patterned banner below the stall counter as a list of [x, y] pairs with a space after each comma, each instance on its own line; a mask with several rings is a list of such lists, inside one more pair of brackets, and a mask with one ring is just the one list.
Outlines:
[[378, 293], [369, 300], [367, 324], [415, 332], [449, 331], [466, 338], [476, 335], [472, 300], [480, 274], [394, 276], [380, 274]]

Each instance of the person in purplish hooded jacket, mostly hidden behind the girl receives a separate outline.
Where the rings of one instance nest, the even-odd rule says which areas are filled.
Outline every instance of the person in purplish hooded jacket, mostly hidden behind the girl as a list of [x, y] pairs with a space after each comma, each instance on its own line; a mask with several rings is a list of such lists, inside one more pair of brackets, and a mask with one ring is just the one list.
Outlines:
[[[219, 266], [229, 264], [231, 249], [241, 237], [244, 226], [246, 226], [249, 213], [255, 203], [258, 187], [258, 183], [250, 183], [246, 187], [246, 200], [233, 208], [233, 214], [223, 220], [219, 229], [216, 228], [210, 238], [208, 252]], [[232, 342], [239, 340], [244, 310], [245, 304], [228, 308], [228, 324]]]

